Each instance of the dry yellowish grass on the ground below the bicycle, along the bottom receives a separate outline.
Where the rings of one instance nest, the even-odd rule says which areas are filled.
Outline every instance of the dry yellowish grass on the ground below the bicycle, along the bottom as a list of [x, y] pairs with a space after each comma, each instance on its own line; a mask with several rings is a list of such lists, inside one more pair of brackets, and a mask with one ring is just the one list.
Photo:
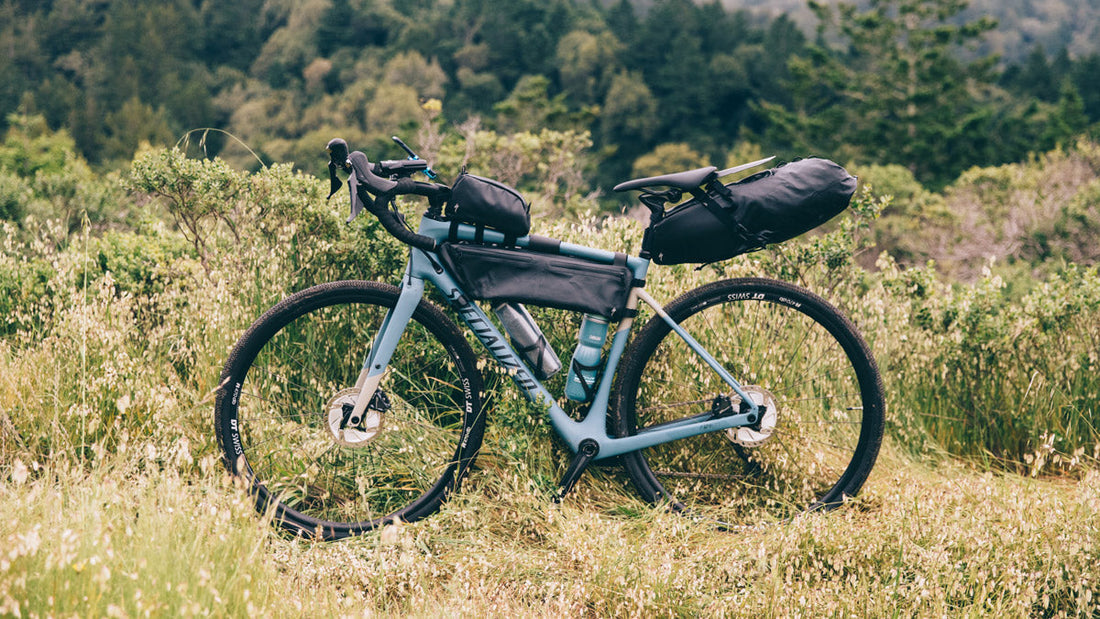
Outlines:
[[839, 510], [729, 533], [639, 502], [614, 472], [554, 506], [497, 456], [427, 520], [320, 544], [268, 527], [211, 457], [141, 451], [7, 476], [0, 615], [1100, 612], [1094, 471], [1035, 479], [888, 450]]

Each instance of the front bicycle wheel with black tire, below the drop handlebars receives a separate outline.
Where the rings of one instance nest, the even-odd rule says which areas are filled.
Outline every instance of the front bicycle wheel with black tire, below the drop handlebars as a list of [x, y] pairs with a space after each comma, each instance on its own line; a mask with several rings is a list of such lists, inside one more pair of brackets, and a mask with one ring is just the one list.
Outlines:
[[337, 540], [421, 519], [473, 465], [485, 430], [476, 356], [427, 299], [384, 396], [348, 421], [358, 393], [346, 389], [398, 295], [373, 281], [308, 288], [257, 319], [226, 363], [215, 404], [224, 464], [295, 534]]

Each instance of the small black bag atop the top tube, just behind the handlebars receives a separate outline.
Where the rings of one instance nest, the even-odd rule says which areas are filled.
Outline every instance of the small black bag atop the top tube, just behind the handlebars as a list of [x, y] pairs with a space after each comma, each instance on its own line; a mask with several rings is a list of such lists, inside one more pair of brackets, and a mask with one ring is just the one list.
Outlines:
[[518, 191], [503, 183], [461, 174], [451, 186], [447, 218], [484, 225], [508, 236], [526, 236], [531, 230], [530, 206]]

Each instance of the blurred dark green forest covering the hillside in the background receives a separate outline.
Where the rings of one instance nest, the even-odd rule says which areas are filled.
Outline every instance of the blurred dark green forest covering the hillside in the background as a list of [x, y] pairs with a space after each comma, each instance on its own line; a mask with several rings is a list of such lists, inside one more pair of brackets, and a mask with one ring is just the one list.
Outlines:
[[[1047, 4], [811, 2], [800, 27], [690, 0], [6, 0], [0, 110], [43, 115], [106, 167], [216, 128], [317, 172], [327, 136], [381, 155], [437, 99], [444, 132], [587, 134], [592, 190], [647, 156], [668, 172], [751, 147], [899, 164], [939, 188], [1100, 121], [1100, 51], [1077, 32], [1094, 20]], [[1005, 54], [1003, 33], [1032, 31]], [[221, 134], [205, 146], [257, 165]]]

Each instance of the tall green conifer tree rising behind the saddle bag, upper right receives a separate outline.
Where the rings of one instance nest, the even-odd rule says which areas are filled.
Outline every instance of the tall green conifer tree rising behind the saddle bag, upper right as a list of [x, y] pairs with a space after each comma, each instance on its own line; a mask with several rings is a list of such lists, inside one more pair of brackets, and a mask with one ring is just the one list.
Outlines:
[[[922, 181], [944, 183], [986, 140], [982, 120], [994, 58], [959, 59], [996, 23], [957, 23], [964, 0], [811, 2], [817, 43], [792, 62], [793, 109], [763, 104], [772, 142], [899, 163]], [[843, 47], [826, 41], [839, 38]]]

